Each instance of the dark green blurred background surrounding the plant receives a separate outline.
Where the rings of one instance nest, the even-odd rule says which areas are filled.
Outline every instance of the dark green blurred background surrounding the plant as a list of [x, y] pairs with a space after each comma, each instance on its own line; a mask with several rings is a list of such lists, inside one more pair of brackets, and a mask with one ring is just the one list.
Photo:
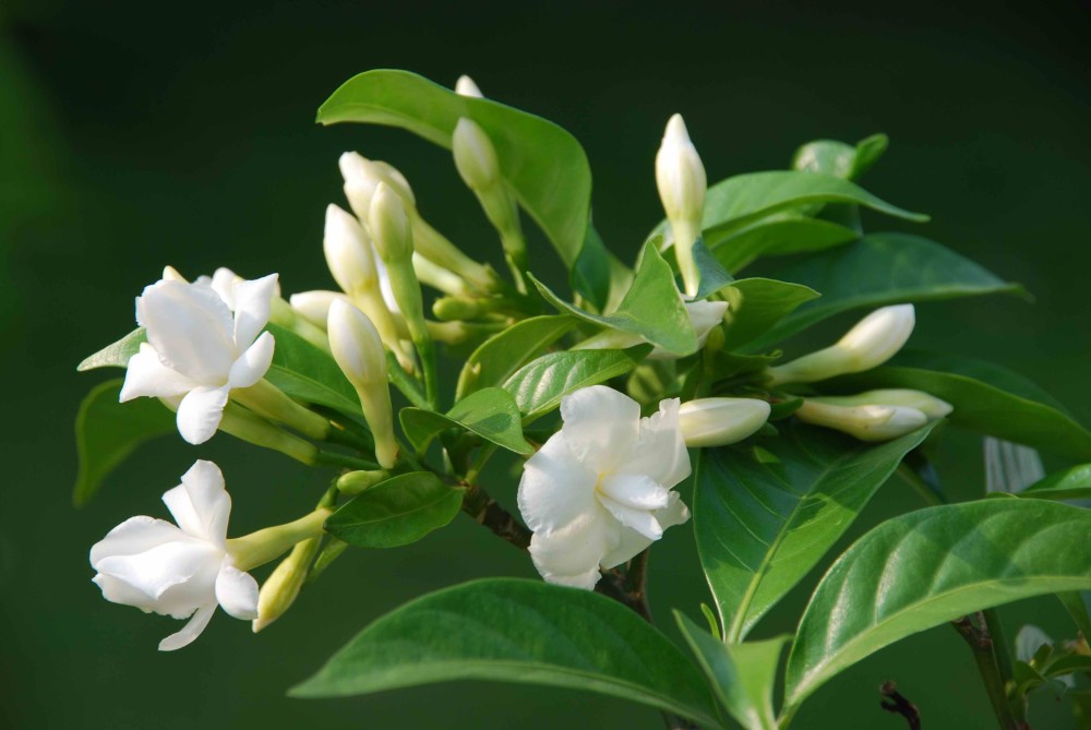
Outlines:
[[[884, 9], [3, 0], [0, 726], [661, 727], [656, 713], [620, 701], [518, 685], [285, 697], [412, 597], [477, 576], [533, 575], [524, 555], [463, 517], [410, 548], [347, 553], [260, 636], [220, 613], [175, 654], [156, 644], [178, 624], [107, 603], [91, 583], [89, 546], [130, 515], [165, 516], [160, 494], [197, 456], [224, 468], [233, 534], [292, 518], [322, 487], [228, 436], [196, 450], [164, 439], [88, 506], [71, 506], [72, 419], [86, 391], [117, 375], [77, 374], [75, 364], [131, 330], [133, 297], [164, 264], [189, 276], [220, 265], [250, 277], [275, 271], [287, 292], [328, 288], [323, 215], [341, 203], [336, 160], [346, 149], [400, 167], [440, 230], [499, 261], [447, 153], [396, 130], [313, 123], [322, 100], [363, 70], [404, 68], [445, 85], [469, 73], [489, 97], [572, 131], [591, 160], [596, 224], [626, 260], [661, 215], [652, 160], [674, 111], [710, 181], [783, 168], [812, 139], [886, 132], [890, 151], [864, 186], [931, 213], [920, 232], [1036, 296], [922, 306], [914, 345], [1007, 366], [1091, 421], [1087, 10], [876, 4]], [[906, 227], [875, 216], [865, 226]], [[552, 252], [540, 250], [536, 273], [560, 283]], [[951, 491], [970, 496], [981, 489], [980, 440], [950, 436], [940, 468]], [[515, 481], [496, 483], [512, 504]], [[891, 482], [846, 541], [913, 506]], [[668, 534], [651, 563], [661, 623], [671, 607], [696, 617], [708, 596], [692, 531]], [[816, 577], [759, 636], [791, 630]], [[1052, 600], [1004, 617], [1011, 635], [1027, 621], [1074, 633]], [[885, 680], [921, 706], [928, 730], [994, 727], [970, 654], [948, 627], [846, 672], [799, 726], [903, 728], [878, 708]], [[1035, 728], [1075, 727], [1066, 706], [1039, 705]]]

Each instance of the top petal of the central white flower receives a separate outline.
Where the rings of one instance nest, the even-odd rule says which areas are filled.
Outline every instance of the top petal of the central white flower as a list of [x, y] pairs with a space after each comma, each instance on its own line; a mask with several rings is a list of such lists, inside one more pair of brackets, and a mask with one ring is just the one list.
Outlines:
[[612, 471], [636, 444], [640, 404], [604, 385], [591, 385], [561, 399], [562, 433], [579, 460]]

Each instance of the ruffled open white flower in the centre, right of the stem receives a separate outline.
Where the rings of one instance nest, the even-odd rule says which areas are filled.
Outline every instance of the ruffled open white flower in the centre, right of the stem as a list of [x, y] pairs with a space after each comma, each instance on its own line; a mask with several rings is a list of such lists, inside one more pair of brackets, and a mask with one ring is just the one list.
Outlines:
[[600, 566], [624, 563], [690, 518], [672, 490], [690, 476], [690, 455], [676, 398], [640, 418], [636, 400], [592, 385], [561, 400], [561, 418], [524, 466], [519, 511], [542, 577], [591, 589]]

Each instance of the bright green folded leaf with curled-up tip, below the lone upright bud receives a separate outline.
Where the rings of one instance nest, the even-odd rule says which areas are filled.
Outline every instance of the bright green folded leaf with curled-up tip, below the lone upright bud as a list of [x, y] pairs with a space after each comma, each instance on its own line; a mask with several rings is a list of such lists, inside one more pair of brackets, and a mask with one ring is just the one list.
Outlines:
[[697, 350], [697, 335], [674, 284], [674, 274], [659, 253], [656, 241], [644, 247], [632, 286], [618, 309], [609, 315], [595, 314], [570, 304], [533, 276], [530, 280], [542, 298], [562, 313], [602, 327], [632, 332], [674, 355], [690, 355]]

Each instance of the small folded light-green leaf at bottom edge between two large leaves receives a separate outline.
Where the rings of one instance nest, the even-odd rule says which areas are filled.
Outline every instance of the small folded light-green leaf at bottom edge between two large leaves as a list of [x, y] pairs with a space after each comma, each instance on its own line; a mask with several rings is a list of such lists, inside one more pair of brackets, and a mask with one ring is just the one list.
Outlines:
[[772, 690], [789, 637], [726, 645], [682, 613], [674, 619], [731, 717], [746, 730], [777, 730]]

